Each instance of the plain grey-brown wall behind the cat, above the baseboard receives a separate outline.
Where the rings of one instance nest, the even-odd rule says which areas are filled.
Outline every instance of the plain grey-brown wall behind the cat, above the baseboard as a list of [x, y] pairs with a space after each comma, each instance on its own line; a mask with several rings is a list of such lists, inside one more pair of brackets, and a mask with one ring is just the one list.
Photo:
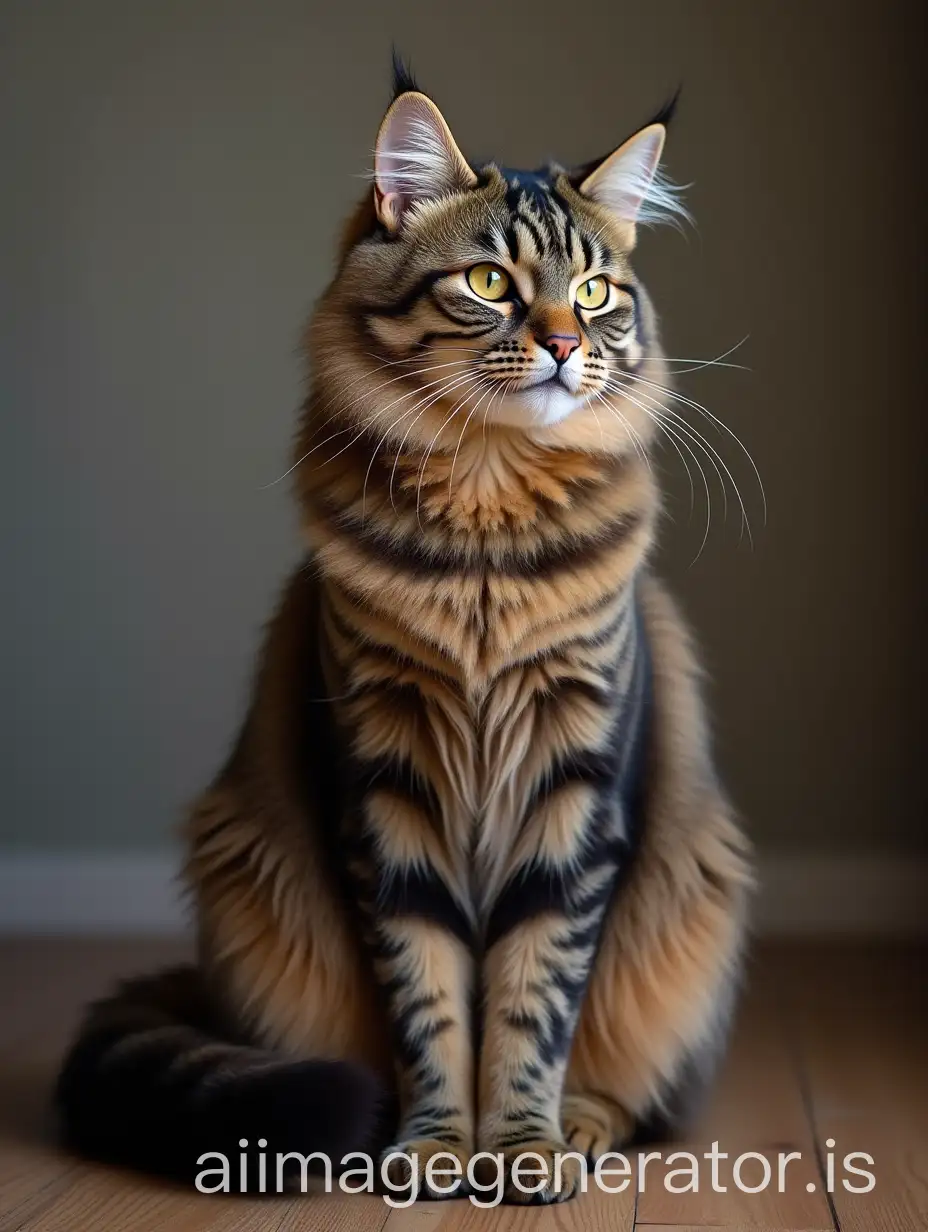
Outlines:
[[513, 164], [601, 153], [684, 80], [670, 169], [699, 228], [647, 237], [641, 269], [672, 355], [749, 334], [751, 372], [685, 388], [769, 501], [764, 526], [709, 430], [755, 546], [716, 488], [690, 567], [705, 511], [667, 453], [721, 760], [768, 845], [923, 844], [908, 9], [4, 4], [2, 845], [160, 846], [230, 737], [298, 551], [265, 485], [299, 329], [393, 38], [463, 148]]

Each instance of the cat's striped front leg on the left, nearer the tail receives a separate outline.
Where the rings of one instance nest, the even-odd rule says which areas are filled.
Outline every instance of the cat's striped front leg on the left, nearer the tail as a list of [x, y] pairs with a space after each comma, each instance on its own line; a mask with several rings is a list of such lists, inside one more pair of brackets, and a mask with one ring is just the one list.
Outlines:
[[368, 797], [364, 812], [372, 839], [361, 878], [366, 931], [399, 1095], [382, 1175], [421, 1198], [460, 1196], [474, 1146], [473, 929], [436, 864], [423, 857], [434, 827], [386, 792]]

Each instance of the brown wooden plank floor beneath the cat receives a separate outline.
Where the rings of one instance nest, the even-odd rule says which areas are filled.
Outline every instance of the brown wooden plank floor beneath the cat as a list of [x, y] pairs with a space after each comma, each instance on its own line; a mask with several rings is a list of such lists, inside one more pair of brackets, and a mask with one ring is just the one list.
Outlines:
[[[115, 975], [179, 952], [164, 942], [0, 940], [0, 1232], [928, 1230], [928, 955], [914, 947], [790, 944], [754, 955], [711, 1106], [677, 1149], [690, 1146], [701, 1157], [718, 1140], [732, 1158], [757, 1151], [775, 1162], [779, 1152], [801, 1152], [785, 1193], [775, 1184], [753, 1196], [738, 1191], [730, 1164], [720, 1168], [728, 1193], [714, 1193], [705, 1164], [699, 1193], [673, 1194], [657, 1161], [625, 1194], [592, 1186], [564, 1206], [488, 1211], [466, 1200], [391, 1211], [373, 1196], [207, 1198], [58, 1151], [48, 1087], [80, 1004]], [[842, 1185], [845, 1175], [863, 1184], [843, 1170], [850, 1151], [874, 1157], [869, 1194]], [[746, 1163], [743, 1181], [757, 1184], [762, 1168]]]

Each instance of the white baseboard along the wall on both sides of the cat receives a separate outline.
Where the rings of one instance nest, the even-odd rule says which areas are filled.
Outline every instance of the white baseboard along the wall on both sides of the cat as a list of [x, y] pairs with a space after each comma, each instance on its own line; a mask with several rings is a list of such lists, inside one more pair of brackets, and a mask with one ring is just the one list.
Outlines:
[[[905, 855], [760, 857], [764, 936], [928, 938], [928, 859]], [[0, 933], [154, 935], [187, 930], [171, 854], [0, 854]]]

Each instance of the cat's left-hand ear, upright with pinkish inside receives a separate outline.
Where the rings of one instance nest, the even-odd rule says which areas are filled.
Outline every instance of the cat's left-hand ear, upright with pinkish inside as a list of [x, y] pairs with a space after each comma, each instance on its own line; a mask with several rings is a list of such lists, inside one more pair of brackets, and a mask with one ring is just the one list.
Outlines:
[[393, 101], [377, 133], [373, 202], [388, 232], [418, 201], [462, 192], [477, 176], [457, 148], [445, 117], [424, 94], [408, 90]]

